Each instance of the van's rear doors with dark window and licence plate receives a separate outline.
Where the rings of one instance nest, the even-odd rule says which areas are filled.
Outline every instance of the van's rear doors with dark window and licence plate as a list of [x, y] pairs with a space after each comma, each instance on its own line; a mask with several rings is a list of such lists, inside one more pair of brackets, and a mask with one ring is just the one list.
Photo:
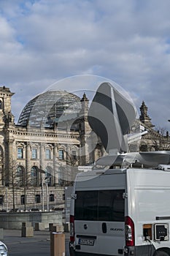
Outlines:
[[121, 255], [125, 246], [125, 189], [85, 189], [75, 192], [77, 252]]

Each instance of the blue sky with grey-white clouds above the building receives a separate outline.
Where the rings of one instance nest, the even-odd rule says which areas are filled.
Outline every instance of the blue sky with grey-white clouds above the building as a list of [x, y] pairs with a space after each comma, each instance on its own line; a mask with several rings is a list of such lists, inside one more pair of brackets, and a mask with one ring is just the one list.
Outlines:
[[169, 0], [0, 0], [0, 85], [15, 92], [15, 122], [55, 81], [98, 75], [170, 131], [169, 10]]

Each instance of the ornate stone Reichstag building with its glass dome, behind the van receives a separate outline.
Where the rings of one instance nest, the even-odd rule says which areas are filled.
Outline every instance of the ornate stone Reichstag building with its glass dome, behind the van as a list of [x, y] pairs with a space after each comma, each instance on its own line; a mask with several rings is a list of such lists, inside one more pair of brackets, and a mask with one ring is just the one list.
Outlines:
[[[46, 91], [26, 104], [15, 124], [12, 95], [0, 87], [0, 210], [62, 208], [64, 187], [72, 184], [78, 166], [105, 154], [88, 124], [88, 98]], [[139, 150], [169, 149], [169, 134], [153, 129], [144, 102], [140, 112], [139, 123], [148, 133]]]

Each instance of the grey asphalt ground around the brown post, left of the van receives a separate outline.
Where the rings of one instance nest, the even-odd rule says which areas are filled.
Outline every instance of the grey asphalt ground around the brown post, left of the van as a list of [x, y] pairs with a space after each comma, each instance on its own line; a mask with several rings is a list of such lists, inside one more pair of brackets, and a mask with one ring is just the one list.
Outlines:
[[[69, 233], [65, 233], [66, 256], [69, 256]], [[21, 237], [20, 230], [4, 230], [9, 256], [50, 256], [50, 232], [34, 231], [34, 237]]]

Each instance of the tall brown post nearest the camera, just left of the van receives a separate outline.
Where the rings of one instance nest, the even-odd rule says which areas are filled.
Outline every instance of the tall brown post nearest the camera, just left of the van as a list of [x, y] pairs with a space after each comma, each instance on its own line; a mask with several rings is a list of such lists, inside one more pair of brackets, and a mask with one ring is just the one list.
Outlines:
[[50, 256], [65, 256], [65, 234], [50, 234]]

